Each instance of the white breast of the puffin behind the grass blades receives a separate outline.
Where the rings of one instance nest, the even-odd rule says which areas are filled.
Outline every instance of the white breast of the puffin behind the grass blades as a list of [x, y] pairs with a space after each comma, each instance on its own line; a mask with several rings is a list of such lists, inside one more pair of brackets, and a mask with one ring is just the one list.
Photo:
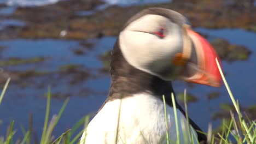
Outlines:
[[[154, 95], [136, 94], [123, 100], [109, 101], [92, 119], [87, 128], [87, 135], [82, 136], [81, 143], [115, 143], [120, 107], [118, 143], [166, 143], [166, 120], [164, 103]], [[176, 142], [176, 125], [173, 108], [167, 109], [168, 132], [170, 140]], [[188, 132], [186, 119], [177, 110], [179, 141], [186, 143], [183, 131]], [[182, 122], [184, 122], [182, 124]], [[183, 130], [182, 130], [183, 129]], [[192, 135], [196, 134], [190, 126]], [[188, 134], [187, 134], [188, 136]], [[187, 139], [189, 139], [187, 137]], [[193, 139], [196, 143], [197, 136]], [[85, 142], [84, 142], [85, 140]], [[187, 141], [191, 143], [191, 141]]]

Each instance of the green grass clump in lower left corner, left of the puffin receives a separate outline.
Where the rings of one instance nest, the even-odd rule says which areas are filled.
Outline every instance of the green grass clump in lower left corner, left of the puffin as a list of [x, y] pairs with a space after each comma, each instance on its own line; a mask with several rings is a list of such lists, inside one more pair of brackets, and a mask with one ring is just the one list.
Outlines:
[[[5, 86], [3, 88], [0, 100], [3, 99], [3, 95], [7, 89], [8, 83], [9, 83], [10, 79], [7, 80], [7, 82], [5, 83]], [[16, 130], [14, 130], [14, 121], [11, 121], [8, 129], [7, 129], [7, 134], [6, 137], [4, 138], [3, 136], [0, 136], [0, 144], [13, 144], [13, 143], [21, 143], [21, 144], [30, 144], [30, 143], [40, 143], [40, 144], [48, 144], [48, 143], [77, 143], [80, 139], [80, 136], [82, 136], [84, 129], [81, 130], [78, 134], [74, 135], [78, 128], [82, 128], [84, 123], [85, 123], [85, 119], [87, 120], [87, 123], [89, 123], [89, 116], [83, 117], [82, 119], [80, 119], [72, 129], [68, 129], [67, 131], [63, 132], [62, 135], [60, 135], [59, 137], [57, 137], [57, 139], [53, 139], [53, 131], [55, 129], [55, 126], [57, 125], [57, 123], [60, 121], [61, 119], [61, 115], [63, 113], [63, 111], [65, 110], [65, 107], [68, 103], [68, 99], [65, 100], [64, 104], [62, 105], [59, 113], [57, 115], [54, 115], [50, 121], [49, 121], [49, 113], [50, 113], [50, 99], [51, 99], [51, 93], [50, 93], [50, 89], [47, 93], [47, 103], [46, 103], [46, 111], [45, 111], [45, 120], [44, 120], [44, 127], [43, 127], [43, 131], [42, 131], [42, 136], [40, 138], [40, 142], [37, 140], [34, 140], [33, 142], [31, 142], [31, 138], [32, 138], [32, 116], [30, 117], [30, 122], [29, 122], [29, 128], [26, 131], [24, 127], [21, 126], [21, 131], [24, 134], [24, 136], [22, 137], [22, 139], [18, 139], [18, 140], [13, 140], [14, 135], [16, 133]], [[0, 101], [1, 104], [1, 101]]]

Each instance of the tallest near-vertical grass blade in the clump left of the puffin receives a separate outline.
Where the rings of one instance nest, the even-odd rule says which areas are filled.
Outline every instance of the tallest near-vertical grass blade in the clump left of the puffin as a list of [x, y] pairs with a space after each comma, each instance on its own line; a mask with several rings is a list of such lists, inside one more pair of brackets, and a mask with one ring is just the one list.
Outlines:
[[43, 128], [43, 134], [40, 141], [41, 144], [45, 143], [45, 135], [46, 135], [46, 129], [48, 127], [48, 119], [49, 119], [49, 112], [50, 112], [50, 99], [51, 99], [51, 91], [50, 91], [50, 88], [48, 88], [44, 128]]

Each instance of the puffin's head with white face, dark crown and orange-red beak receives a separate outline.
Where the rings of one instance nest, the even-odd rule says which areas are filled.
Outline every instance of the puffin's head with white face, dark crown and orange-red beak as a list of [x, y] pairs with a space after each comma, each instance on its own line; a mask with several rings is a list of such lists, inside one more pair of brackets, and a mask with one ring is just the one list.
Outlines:
[[216, 52], [176, 11], [142, 10], [126, 23], [119, 44], [129, 64], [162, 80], [220, 85]]

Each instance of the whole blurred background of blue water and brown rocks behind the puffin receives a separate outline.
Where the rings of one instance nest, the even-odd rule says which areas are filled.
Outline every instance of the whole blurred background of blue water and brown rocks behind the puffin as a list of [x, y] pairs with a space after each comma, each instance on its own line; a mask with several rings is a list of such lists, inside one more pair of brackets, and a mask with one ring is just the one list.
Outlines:
[[[0, 0], [0, 86], [10, 85], [0, 105], [0, 135], [11, 120], [41, 135], [51, 88], [50, 116], [69, 103], [56, 125], [59, 136], [96, 112], [110, 84], [109, 51], [129, 17], [148, 7], [185, 15], [222, 59], [226, 79], [241, 109], [256, 118], [256, 3], [253, 0]], [[224, 85], [213, 88], [174, 81], [179, 103], [188, 91], [189, 116], [207, 131], [234, 110]]]

